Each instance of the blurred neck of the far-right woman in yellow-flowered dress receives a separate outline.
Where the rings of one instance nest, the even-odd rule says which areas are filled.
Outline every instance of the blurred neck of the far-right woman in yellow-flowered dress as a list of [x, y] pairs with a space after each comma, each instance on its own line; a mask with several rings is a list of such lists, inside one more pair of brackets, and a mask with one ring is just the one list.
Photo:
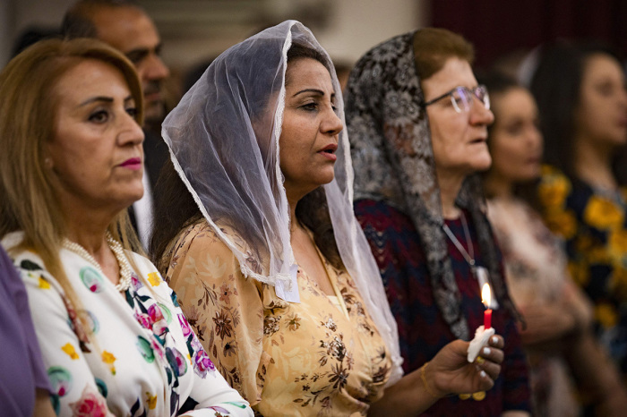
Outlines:
[[575, 140], [574, 174], [586, 183], [606, 189], [617, 186], [612, 173], [614, 148], [579, 138]]

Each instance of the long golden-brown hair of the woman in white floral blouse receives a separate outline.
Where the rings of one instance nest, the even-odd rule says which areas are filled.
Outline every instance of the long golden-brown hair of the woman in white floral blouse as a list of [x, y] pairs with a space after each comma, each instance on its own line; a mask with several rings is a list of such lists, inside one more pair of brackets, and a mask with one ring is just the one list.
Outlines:
[[[56, 109], [63, 100], [56, 85], [86, 60], [104, 62], [122, 72], [138, 109], [135, 120], [142, 125], [142, 86], [133, 64], [99, 40], [44, 40], [25, 49], [0, 72], [0, 237], [23, 232], [22, 243], [13, 251], [37, 252], [76, 309], [81, 303], [59, 259], [66, 225], [45, 169], [44, 149], [53, 140]], [[125, 249], [142, 253], [126, 210], [113, 219], [108, 231]]]

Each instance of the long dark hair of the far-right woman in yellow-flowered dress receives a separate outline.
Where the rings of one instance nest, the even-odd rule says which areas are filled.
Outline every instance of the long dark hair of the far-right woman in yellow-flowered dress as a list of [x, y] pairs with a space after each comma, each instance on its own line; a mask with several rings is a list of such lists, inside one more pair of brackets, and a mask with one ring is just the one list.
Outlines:
[[597, 54], [609, 55], [621, 62], [610, 47], [597, 42], [558, 40], [545, 45], [539, 50], [537, 69], [529, 88], [542, 115], [540, 128], [545, 138], [545, 161], [571, 178], [576, 177], [573, 166], [575, 110], [580, 105], [586, 61]]

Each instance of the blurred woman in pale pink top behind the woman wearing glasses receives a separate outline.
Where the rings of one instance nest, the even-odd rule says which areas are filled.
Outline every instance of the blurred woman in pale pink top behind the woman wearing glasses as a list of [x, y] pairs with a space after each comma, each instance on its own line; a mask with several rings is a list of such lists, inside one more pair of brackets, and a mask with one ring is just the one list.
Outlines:
[[528, 89], [499, 74], [480, 77], [490, 91], [494, 124], [488, 129], [492, 166], [485, 173], [488, 218], [502, 250], [511, 298], [525, 317], [536, 414], [580, 415], [572, 377], [598, 415], [623, 415], [627, 396], [614, 364], [592, 333], [592, 307], [566, 268], [562, 242], [537, 207], [542, 134]]

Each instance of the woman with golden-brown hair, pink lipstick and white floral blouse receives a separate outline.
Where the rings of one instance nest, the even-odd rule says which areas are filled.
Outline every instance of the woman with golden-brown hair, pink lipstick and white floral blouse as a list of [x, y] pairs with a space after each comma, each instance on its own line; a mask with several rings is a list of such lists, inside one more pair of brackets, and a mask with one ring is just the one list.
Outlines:
[[0, 237], [57, 415], [251, 416], [132, 251], [126, 209], [143, 194], [133, 64], [97, 40], [47, 40], [0, 72], [0, 97]]

